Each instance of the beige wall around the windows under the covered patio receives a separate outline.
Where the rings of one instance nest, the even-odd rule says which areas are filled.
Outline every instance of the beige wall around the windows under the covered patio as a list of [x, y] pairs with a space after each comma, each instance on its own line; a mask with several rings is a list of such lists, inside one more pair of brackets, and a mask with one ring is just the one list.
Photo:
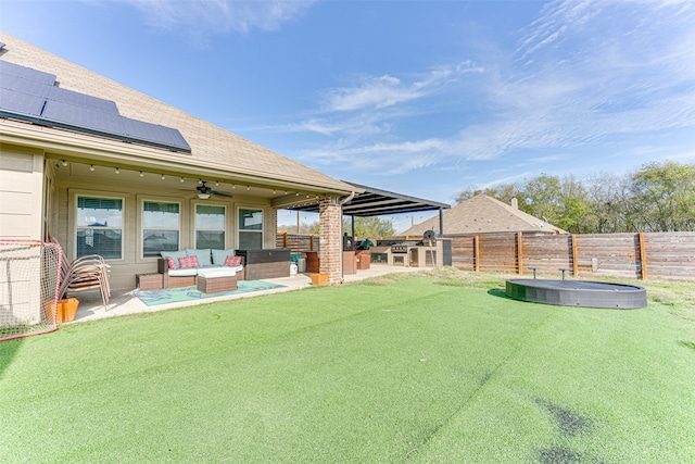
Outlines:
[[[238, 210], [262, 209], [263, 248], [275, 248], [276, 210], [270, 201], [244, 195], [243, 189], [232, 198], [212, 197], [200, 200], [195, 196], [197, 183], [178, 179], [163, 181], [159, 175], [139, 177], [137, 172], [115, 174], [113, 168], [100, 167], [85, 174], [84, 165], [70, 164], [55, 174], [55, 198], [51, 204], [55, 224], [51, 235], [61, 243], [65, 259], [77, 255], [77, 199], [79, 196], [115, 198], [123, 200], [122, 259], [108, 259], [111, 265], [111, 287], [134, 288], [136, 274], [156, 273], [156, 258], [142, 256], [143, 201], [175, 202], [179, 204], [179, 249], [195, 248], [195, 205], [214, 204], [226, 208], [226, 248], [238, 248]], [[288, 264], [289, 265], [289, 264]]]

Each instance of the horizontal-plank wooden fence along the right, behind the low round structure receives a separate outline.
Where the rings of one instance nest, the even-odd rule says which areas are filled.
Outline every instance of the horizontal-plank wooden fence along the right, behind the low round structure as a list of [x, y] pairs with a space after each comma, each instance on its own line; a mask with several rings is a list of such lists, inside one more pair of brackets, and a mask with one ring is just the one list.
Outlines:
[[445, 237], [460, 269], [695, 280], [695, 233]]

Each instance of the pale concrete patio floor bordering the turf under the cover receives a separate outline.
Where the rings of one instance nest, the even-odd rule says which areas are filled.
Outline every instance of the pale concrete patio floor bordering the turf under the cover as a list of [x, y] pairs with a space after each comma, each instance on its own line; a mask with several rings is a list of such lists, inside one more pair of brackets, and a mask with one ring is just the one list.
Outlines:
[[[393, 274], [393, 273], [412, 273], [418, 271], [426, 271], [422, 267], [404, 267], [404, 266], [388, 266], [388, 265], [374, 265], [369, 269], [359, 269], [357, 274], [345, 275], [343, 281], [350, 284], [353, 281], [364, 280], [370, 277], [378, 277], [380, 275]], [[138, 313], [153, 313], [156, 311], [170, 310], [173, 308], [193, 306], [198, 304], [206, 304], [215, 301], [236, 300], [239, 298], [257, 297], [267, 293], [278, 293], [283, 291], [292, 291], [301, 288], [312, 286], [312, 279], [308, 273], [299, 273], [290, 277], [281, 277], [274, 279], [264, 279], [264, 281], [281, 285], [281, 288], [275, 288], [270, 290], [252, 291], [247, 293], [233, 294], [233, 296], [220, 296], [205, 298], [204, 300], [193, 300], [186, 302], [177, 302], [169, 304], [160, 304], [155, 306], [146, 305], [139, 298], [134, 294], [136, 289], [112, 289], [111, 301], [109, 302], [109, 309], [105, 310], [101, 302], [101, 296], [99, 291], [87, 291], [84, 293], [74, 294], [79, 300], [79, 308], [75, 315], [73, 323], [94, 321], [104, 317], [122, 316], [126, 314]]]

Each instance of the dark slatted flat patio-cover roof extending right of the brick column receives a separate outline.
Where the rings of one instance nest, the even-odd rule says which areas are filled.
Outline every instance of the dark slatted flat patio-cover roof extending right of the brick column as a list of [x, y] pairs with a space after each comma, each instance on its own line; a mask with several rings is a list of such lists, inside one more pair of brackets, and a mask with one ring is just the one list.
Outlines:
[[[379, 216], [383, 214], [414, 213], [417, 211], [447, 210], [452, 208], [446, 203], [439, 203], [422, 198], [409, 197], [375, 187], [367, 187], [343, 180], [361, 191], [343, 204], [343, 214], [349, 216]], [[318, 203], [292, 208], [292, 210], [309, 211], [318, 213]]]

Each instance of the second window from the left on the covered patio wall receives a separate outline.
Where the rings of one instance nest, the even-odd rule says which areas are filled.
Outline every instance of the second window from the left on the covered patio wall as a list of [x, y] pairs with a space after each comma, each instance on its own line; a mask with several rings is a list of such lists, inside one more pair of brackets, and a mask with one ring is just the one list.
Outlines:
[[142, 256], [155, 258], [162, 251], [178, 250], [179, 204], [142, 202]]

